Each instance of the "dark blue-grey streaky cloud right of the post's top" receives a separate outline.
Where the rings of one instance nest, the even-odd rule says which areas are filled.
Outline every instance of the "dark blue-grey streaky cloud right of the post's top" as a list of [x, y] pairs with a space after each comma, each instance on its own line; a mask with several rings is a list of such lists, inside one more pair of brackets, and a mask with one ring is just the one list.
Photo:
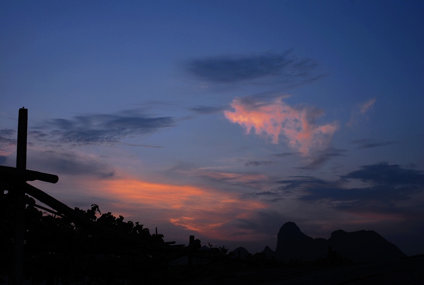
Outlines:
[[[52, 119], [35, 129], [50, 129], [50, 136], [65, 143], [114, 144], [171, 126], [175, 126], [172, 117], [152, 118], [137, 110], [127, 110], [117, 114], [75, 116], [71, 120]], [[43, 136], [41, 132], [39, 135]]]

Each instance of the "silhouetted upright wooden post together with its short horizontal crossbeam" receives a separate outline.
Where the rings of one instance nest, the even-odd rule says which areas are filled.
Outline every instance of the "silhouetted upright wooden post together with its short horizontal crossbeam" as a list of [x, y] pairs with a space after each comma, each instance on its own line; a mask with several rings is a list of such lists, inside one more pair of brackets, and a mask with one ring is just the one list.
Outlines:
[[49, 173], [27, 170], [27, 130], [28, 109], [19, 109], [18, 141], [16, 149], [16, 168], [0, 165], [0, 180], [9, 182], [16, 198], [15, 204], [15, 240], [13, 243], [13, 277], [15, 285], [22, 284], [23, 247], [24, 247], [24, 211], [26, 182], [41, 180], [56, 183], [59, 177]]

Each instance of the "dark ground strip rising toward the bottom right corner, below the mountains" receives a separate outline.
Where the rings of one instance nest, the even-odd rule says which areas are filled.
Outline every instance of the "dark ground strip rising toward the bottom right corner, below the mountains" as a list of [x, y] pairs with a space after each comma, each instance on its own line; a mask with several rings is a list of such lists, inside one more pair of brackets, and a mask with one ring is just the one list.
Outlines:
[[424, 284], [424, 255], [399, 261], [317, 268], [283, 268], [216, 274], [179, 285], [361, 285]]

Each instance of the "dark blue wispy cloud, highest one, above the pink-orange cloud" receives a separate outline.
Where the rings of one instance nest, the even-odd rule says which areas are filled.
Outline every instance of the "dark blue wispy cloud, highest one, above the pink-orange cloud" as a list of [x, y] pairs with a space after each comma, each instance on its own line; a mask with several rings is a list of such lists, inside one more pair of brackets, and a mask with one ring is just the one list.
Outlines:
[[318, 64], [308, 58], [297, 58], [291, 50], [283, 53], [259, 53], [193, 59], [186, 70], [205, 81], [216, 83], [283, 83], [300, 85], [322, 77]]

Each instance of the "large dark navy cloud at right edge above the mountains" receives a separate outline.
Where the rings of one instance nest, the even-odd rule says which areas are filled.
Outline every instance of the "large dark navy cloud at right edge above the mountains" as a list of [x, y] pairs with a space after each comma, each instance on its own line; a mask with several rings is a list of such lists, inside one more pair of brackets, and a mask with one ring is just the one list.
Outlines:
[[[363, 188], [350, 188], [350, 181], [369, 183]], [[330, 207], [352, 211], [407, 213], [417, 208], [397, 208], [399, 201], [411, 201], [414, 194], [424, 191], [423, 171], [405, 169], [397, 164], [377, 163], [327, 181], [313, 176], [290, 177], [278, 181], [282, 194], [298, 194], [300, 201], [324, 201]]]

